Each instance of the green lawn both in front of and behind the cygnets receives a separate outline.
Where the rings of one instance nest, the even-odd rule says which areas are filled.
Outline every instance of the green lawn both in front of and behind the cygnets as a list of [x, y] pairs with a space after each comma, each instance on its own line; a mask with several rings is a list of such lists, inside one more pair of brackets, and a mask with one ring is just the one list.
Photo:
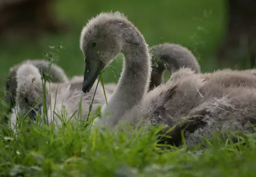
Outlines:
[[[81, 28], [96, 14], [111, 10], [125, 13], [148, 45], [179, 43], [193, 51], [203, 72], [216, 69], [212, 57], [224, 31], [223, 0], [59, 0], [55, 7], [59, 17], [69, 22], [69, 33], [46, 36], [36, 44], [26, 40], [2, 44], [3, 90], [9, 67], [23, 59], [43, 58], [44, 53], [52, 51], [48, 46], [60, 42], [65, 49], [59, 50], [55, 63], [70, 77], [83, 74]], [[117, 72], [104, 73], [105, 82], [117, 81], [121, 56], [113, 63]], [[0, 124], [1, 177], [253, 177], [256, 174], [255, 135], [248, 135], [236, 144], [209, 142], [204, 149], [187, 146], [161, 149], [157, 146], [156, 129], [90, 132], [86, 122], [57, 128], [31, 125], [28, 129], [20, 129], [16, 137]]]

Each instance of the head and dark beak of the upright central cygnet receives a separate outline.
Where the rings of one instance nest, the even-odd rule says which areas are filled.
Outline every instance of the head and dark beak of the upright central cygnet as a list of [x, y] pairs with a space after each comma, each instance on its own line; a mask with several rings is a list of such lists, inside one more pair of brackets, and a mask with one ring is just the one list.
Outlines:
[[123, 14], [108, 12], [92, 18], [82, 29], [80, 49], [86, 64], [82, 88], [84, 93], [90, 90], [104, 67], [122, 51], [126, 41], [136, 40], [129, 38], [131, 31], [128, 25], [132, 23]]

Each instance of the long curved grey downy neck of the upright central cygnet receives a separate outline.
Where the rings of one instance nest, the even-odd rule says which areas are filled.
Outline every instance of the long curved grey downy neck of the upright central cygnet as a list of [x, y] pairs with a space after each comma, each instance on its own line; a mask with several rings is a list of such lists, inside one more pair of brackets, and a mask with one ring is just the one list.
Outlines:
[[114, 126], [125, 111], [131, 110], [142, 100], [150, 81], [151, 58], [148, 45], [137, 28], [130, 32], [125, 31], [123, 34], [125, 39], [122, 53], [125, 60], [121, 77], [108, 105], [105, 104], [101, 110], [103, 121], [110, 126]]

